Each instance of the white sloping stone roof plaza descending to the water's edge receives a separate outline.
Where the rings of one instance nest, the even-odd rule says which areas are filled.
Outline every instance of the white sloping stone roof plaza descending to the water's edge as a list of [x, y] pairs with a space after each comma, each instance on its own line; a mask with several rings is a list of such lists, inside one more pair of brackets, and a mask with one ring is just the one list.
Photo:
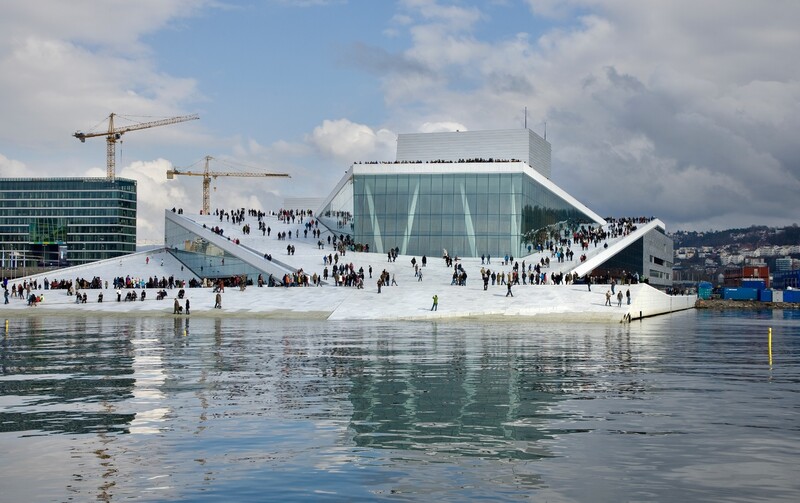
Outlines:
[[[271, 236], [261, 236], [257, 232], [255, 218], [247, 218], [252, 229], [250, 235], [244, 235], [241, 228], [244, 223], [233, 226], [228, 222], [220, 222], [213, 216], [184, 215], [195, 222], [200, 230], [209, 233], [207, 227], [219, 225], [225, 229], [225, 235], [231, 239], [239, 239], [246, 246], [258, 253], [271, 253], [287, 266], [302, 268], [309, 274], [321, 274], [323, 270], [323, 254], [333, 254], [327, 245], [327, 233], [323, 233], [325, 242], [323, 250], [318, 249], [317, 239], [297, 238], [297, 231], [303, 234], [303, 225], [284, 224], [275, 217], [267, 217], [267, 225], [271, 228]], [[293, 239], [277, 240], [276, 233], [291, 230]], [[609, 249], [622, 239], [609, 241]], [[286, 246], [295, 246], [295, 254], [288, 255]], [[600, 249], [600, 247], [598, 247]], [[597, 255], [604, 253], [598, 251]], [[590, 250], [591, 252], [592, 250]], [[578, 254], [578, 250], [575, 250]], [[591, 254], [592, 257], [595, 254]], [[149, 258], [149, 261], [147, 260]], [[347, 252], [341, 261], [353, 263], [356, 269], [363, 267], [365, 271], [364, 288], [321, 287], [293, 288], [258, 288], [248, 287], [244, 291], [226, 289], [222, 294], [222, 309], [214, 309], [215, 294], [210, 288], [187, 288], [186, 296], [191, 303], [191, 316], [248, 316], [265, 318], [309, 318], [330, 320], [446, 320], [446, 319], [491, 319], [491, 320], [527, 320], [566, 321], [566, 322], [602, 322], [619, 323], [628, 319], [654, 316], [667, 312], [690, 309], [694, 306], [694, 296], [668, 296], [648, 285], [638, 284], [619, 286], [623, 292], [630, 289], [631, 305], [623, 298], [619, 306], [616, 298], [612, 305], [605, 305], [605, 293], [609, 285], [592, 285], [589, 291], [586, 285], [515, 285], [512, 296], [507, 296], [505, 285], [489, 285], [484, 291], [480, 280], [481, 267], [491, 268], [495, 272], [510, 272], [510, 265], [501, 265], [497, 259], [492, 264], [481, 265], [480, 258], [462, 259], [460, 262], [467, 271], [466, 286], [451, 285], [452, 269], [444, 264], [440, 257], [427, 257], [427, 267], [422, 268], [422, 281], [415, 277], [410, 256], [398, 257], [395, 262], [388, 262], [385, 254]], [[538, 261], [541, 255], [519, 257], [526, 263]], [[417, 262], [421, 257], [416, 257]], [[592, 258], [588, 259], [592, 260]], [[587, 260], [587, 261], [588, 261]], [[548, 275], [553, 271], [577, 270], [577, 261], [559, 264], [563, 269], [551, 262]], [[578, 264], [579, 265], [579, 264]], [[372, 278], [369, 278], [369, 267], [372, 266]], [[377, 277], [386, 270], [393, 276], [398, 286], [382, 287], [378, 293]], [[62, 269], [48, 274], [40, 274], [29, 279], [42, 283], [49, 280], [85, 278], [91, 280], [100, 277], [109, 286], [117, 276], [132, 278], [148, 278], [151, 276], [169, 277], [189, 281], [194, 277], [187, 269], [181, 270], [181, 263], [164, 249], [141, 252], [118, 259], [96, 262], [94, 264]], [[21, 282], [17, 280], [17, 282]], [[76, 304], [74, 297], [68, 296], [65, 290], [37, 290], [44, 296], [44, 301], [37, 307], [28, 307], [22, 299], [11, 299], [10, 304], [2, 309], [6, 316], [44, 313], [104, 314], [104, 315], [148, 315], [174, 316], [173, 302], [177, 289], [169, 290], [164, 300], [155, 300], [158, 289], [147, 289], [146, 300], [136, 302], [117, 302], [113, 288], [88, 290], [87, 303]], [[98, 303], [98, 294], [102, 292], [104, 302]], [[140, 293], [141, 289], [137, 289]], [[123, 298], [124, 298], [123, 292]], [[437, 311], [431, 311], [432, 297], [438, 295]], [[183, 304], [183, 301], [181, 302]]]

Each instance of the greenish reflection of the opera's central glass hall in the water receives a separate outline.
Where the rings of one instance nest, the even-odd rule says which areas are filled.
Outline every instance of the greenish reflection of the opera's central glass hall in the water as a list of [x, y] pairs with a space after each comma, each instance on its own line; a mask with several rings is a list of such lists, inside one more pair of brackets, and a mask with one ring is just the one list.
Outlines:
[[[463, 342], [462, 342], [463, 344]], [[488, 349], [488, 348], [487, 348]], [[467, 456], [548, 456], [537, 445], [548, 408], [561, 393], [538, 355], [492, 354], [469, 359], [462, 345], [448, 359], [391, 350], [353, 378], [350, 428], [359, 446], [436, 450]]]

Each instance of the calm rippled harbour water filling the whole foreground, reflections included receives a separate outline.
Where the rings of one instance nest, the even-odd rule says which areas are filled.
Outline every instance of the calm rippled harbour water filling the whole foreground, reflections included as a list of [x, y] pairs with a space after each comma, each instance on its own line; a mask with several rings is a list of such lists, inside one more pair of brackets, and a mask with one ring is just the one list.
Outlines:
[[13, 318], [0, 501], [797, 502], [799, 419], [800, 311]]

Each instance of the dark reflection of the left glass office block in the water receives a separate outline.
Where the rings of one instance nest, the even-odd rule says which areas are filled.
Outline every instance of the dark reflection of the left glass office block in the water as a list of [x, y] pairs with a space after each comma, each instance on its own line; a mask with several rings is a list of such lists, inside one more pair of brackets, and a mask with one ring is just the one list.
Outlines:
[[[0, 381], [0, 396], [19, 403], [0, 409], [0, 432], [85, 434], [127, 428], [133, 414], [85, 406], [122, 401], [134, 386], [130, 340], [93, 336], [101, 330], [83, 318], [53, 323], [31, 317], [24, 330], [28, 338], [4, 340], [0, 366], [18, 378]], [[76, 344], [80, 352], [65, 349]]]

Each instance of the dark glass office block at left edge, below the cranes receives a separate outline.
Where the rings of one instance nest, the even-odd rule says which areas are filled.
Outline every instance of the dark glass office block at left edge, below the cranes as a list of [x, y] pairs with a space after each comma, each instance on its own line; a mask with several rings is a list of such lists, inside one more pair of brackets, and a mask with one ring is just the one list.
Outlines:
[[136, 181], [0, 179], [2, 267], [79, 265], [136, 251]]

